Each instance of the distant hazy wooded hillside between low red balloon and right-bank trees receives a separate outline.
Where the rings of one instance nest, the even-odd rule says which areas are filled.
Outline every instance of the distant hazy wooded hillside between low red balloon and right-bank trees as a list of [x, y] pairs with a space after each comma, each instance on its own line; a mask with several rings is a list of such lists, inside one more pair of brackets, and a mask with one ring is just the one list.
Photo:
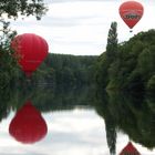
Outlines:
[[53, 85], [90, 84], [93, 82], [93, 64], [96, 56], [75, 56], [49, 53], [44, 63], [32, 76], [39, 83], [52, 83]]

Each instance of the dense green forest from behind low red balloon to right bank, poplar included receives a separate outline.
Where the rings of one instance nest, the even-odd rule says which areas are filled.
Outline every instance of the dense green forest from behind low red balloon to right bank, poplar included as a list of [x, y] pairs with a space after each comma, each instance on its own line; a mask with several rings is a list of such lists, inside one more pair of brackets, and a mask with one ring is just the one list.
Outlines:
[[[96, 83], [106, 91], [153, 93], [155, 91], [155, 30], [140, 32], [128, 41], [117, 43], [116, 29], [116, 22], [112, 22], [106, 51], [100, 56], [50, 53], [33, 74], [32, 83], [42, 82], [64, 86]], [[18, 79], [23, 83], [24, 74], [19, 73]]]

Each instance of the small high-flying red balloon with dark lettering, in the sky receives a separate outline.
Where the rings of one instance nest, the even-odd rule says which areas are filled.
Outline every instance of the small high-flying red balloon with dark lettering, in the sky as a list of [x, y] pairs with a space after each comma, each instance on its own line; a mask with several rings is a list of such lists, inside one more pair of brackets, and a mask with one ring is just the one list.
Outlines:
[[143, 12], [143, 6], [136, 1], [126, 1], [120, 7], [120, 16], [130, 29], [141, 20]]

